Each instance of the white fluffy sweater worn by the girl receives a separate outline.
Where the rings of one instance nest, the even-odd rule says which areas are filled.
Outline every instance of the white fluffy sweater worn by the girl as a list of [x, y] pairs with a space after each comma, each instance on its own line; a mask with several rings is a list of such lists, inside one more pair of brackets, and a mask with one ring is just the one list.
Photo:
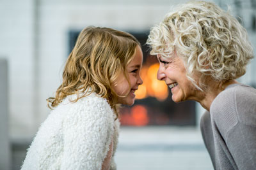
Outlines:
[[[22, 170], [101, 169], [112, 136], [114, 155], [120, 123], [106, 99], [90, 94], [71, 103], [74, 97], [67, 97], [40, 126]], [[110, 169], [116, 169], [113, 157]]]

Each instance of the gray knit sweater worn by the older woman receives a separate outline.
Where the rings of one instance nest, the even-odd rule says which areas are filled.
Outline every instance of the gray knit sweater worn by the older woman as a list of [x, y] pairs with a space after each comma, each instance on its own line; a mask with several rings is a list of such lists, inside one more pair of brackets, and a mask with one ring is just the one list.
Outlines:
[[256, 169], [256, 89], [228, 86], [200, 126], [214, 169]]

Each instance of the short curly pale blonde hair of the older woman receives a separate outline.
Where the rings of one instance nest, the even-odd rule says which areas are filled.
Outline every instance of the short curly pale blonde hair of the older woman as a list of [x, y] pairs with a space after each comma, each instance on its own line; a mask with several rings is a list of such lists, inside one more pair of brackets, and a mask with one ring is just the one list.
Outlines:
[[[205, 77], [223, 83], [246, 73], [253, 59], [247, 32], [235, 17], [214, 3], [189, 1], [164, 17], [150, 30], [150, 54], [182, 57], [187, 77], [204, 91]], [[199, 84], [194, 80], [199, 73]]]

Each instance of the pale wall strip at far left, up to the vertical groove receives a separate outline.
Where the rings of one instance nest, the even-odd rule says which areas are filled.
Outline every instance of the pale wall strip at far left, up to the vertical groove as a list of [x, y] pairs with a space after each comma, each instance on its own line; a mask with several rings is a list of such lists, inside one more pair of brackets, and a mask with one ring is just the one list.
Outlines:
[[[10, 132], [33, 127], [33, 1], [0, 1], [0, 55], [8, 60]], [[2, 81], [2, 80], [1, 80]]]

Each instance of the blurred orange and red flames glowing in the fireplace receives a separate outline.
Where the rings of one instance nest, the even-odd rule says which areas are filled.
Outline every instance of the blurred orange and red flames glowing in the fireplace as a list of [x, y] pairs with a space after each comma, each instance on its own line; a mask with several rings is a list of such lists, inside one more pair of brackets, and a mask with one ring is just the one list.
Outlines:
[[[141, 78], [143, 84], [136, 90], [136, 99], [145, 99], [146, 97], [156, 97], [158, 101], [164, 101], [168, 97], [168, 87], [164, 81], [157, 80], [157, 71], [159, 64], [144, 64], [141, 68]], [[168, 123], [168, 117], [156, 118], [156, 122], [161, 124]], [[120, 117], [122, 125], [147, 125], [150, 120], [148, 117], [148, 110], [145, 106], [137, 104], [132, 108], [122, 108]]]

